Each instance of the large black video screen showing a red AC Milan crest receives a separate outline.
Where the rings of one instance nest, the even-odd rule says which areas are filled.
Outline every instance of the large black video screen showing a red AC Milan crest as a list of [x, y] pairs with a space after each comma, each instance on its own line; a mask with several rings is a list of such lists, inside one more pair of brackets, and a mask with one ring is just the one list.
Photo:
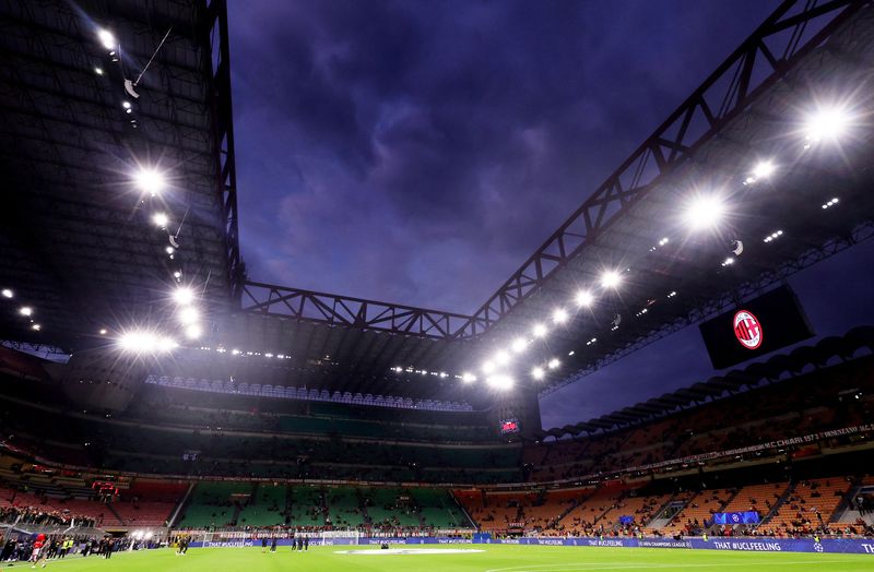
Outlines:
[[789, 286], [763, 294], [699, 327], [716, 369], [730, 368], [814, 335]]

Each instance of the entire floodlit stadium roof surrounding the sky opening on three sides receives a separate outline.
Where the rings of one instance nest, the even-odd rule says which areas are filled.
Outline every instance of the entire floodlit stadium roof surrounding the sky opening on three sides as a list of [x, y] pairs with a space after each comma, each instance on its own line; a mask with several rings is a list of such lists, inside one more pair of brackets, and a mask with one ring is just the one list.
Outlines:
[[[0, 248], [13, 261], [9, 287], [43, 326], [31, 330], [4, 305], [5, 338], [73, 349], [103, 343], [104, 325], [164, 323], [181, 260], [210, 318], [198, 349], [177, 359], [282, 355], [269, 366], [274, 383], [422, 396], [480, 392], [493, 360], [517, 383], [550, 391], [872, 235], [874, 199], [861, 191], [873, 142], [854, 124], [874, 111], [864, 87], [874, 58], [869, 1], [783, 2], [472, 317], [253, 281], [239, 289], [224, 2], [2, 10], [0, 103], [10, 120], [0, 142], [17, 192]], [[102, 26], [121, 44], [123, 67], [102, 47]], [[158, 46], [127, 114], [123, 79]], [[832, 105], [846, 108], [847, 136], [808, 145], [805, 116]], [[772, 162], [771, 176], [747, 181], [761, 160]], [[166, 204], [138, 202], [138, 162], [172, 174]], [[718, 231], [681, 222], [694, 192], [723, 193]], [[160, 206], [168, 228], [185, 219], [174, 262], [167, 231], [151, 224]], [[736, 262], [724, 264], [729, 257]], [[605, 270], [617, 273], [615, 291], [600, 285]], [[591, 309], [577, 306], [581, 289], [594, 294]], [[238, 299], [243, 311], [226, 313]], [[567, 320], [554, 324], [558, 308]], [[535, 324], [548, 334], [535, 336]], [[523, 357], [503, 367], [518, 338]], [[543, 380], [531, 378], [535, 366]], [[688, 391], [664, 398], [710, 388]]]

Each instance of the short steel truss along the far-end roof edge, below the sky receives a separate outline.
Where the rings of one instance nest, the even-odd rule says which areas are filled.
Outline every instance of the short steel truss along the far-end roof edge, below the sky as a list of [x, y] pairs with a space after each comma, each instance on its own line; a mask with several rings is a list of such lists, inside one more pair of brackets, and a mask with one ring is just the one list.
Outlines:
[[458, 338], [471, 317], [246, 281], [243, 310], [428, 338]]

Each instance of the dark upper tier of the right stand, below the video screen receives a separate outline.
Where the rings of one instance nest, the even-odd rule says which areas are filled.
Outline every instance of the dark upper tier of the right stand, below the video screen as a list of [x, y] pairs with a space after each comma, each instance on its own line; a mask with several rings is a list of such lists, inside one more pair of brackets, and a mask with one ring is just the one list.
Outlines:
[[[817, 370], [748, 393], [681, 410], [642, 426], [525, 446], [531, 481], [572, 479], [701, 453], [728, 451], [862, 426], [874, 419], [871, 358]], [[842, 392], [853, 390], [854, 394]], [[870, 431], [867, 433], [871, 433]], [[822, 445], [863, 439], [865, 433], [790, 446], [796, 456]]]

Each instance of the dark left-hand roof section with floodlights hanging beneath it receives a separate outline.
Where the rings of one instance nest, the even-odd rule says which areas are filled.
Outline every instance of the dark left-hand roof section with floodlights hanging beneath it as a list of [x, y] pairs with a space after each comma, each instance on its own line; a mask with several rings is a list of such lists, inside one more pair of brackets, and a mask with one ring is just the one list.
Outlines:
[[[4, 2], [0, 29], [0, 255], [14, 295], [3, 337], [99, 343], [102, 329], [154, 319], [179, 271], [229, 308], [239, 253], [224, 2]], [[138, 186], [142, 170], [166, 189]]]

